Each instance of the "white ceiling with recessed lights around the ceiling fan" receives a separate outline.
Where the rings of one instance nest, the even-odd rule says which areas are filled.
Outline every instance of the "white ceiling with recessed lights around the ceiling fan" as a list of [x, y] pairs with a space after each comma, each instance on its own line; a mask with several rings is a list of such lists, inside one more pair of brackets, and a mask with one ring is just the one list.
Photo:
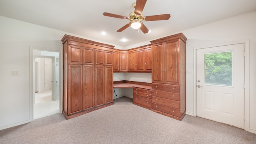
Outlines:
[[[0, 0], [0, 15], [80, 36], [129, 46], [256, 10], [256, 0], [148, 0], [144, 16], [171, 14], [169, 20], [144, 22], [144, 34], [127, 28], [128, 20], [103, 16], [103, 12], [128, 16], [136, 0]], [[102, 35], [101, 32], [106, 32]], [[122, 42], [125, 38], [127, 42]]]

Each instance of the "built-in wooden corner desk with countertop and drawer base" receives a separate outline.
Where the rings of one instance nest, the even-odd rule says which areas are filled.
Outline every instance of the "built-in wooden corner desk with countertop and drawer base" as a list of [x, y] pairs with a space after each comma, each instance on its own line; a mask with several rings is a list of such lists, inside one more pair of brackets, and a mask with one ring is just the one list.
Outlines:
[[133, 88], [133, 104], [147, 108], [152, 108], [152, 85], [146, 82], [118, 81], [114, 82], [114, 88]]

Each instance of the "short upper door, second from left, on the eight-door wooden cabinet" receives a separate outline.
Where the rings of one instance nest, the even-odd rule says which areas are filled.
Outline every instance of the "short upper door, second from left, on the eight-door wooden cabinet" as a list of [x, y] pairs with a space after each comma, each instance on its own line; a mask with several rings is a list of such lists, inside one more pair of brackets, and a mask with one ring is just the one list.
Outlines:
[[83, 64], [94, 65], [94, 48], [83, 48]]

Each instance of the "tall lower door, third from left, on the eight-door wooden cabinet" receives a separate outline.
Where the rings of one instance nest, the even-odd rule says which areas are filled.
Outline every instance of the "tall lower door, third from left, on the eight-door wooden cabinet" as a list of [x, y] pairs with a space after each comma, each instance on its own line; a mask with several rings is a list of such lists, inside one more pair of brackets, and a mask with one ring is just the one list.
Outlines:
[[105, 101], [105, 88], [104, 88], [104, 66], [95, 66], [95, 105], [99, 106], [104, 104]]

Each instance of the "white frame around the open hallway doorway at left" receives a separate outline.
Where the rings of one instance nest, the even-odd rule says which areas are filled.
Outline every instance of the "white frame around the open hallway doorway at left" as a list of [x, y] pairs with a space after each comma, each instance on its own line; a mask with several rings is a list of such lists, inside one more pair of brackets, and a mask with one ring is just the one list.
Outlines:
[[[59, 113], [62, 113], [62, 97], [63, 97], [63, 52], [62, 50], [42, 48], [37, 46], [29, 46], [29, 77], [30, 77], [30, 122], [34, 120], [34, 50], [48, 51], [48, 52], [58, 52], [59, 53]], [[38, 57], [38, 56], [37, 56]], [[47, 56], [44, 56], [47, 57]]]

